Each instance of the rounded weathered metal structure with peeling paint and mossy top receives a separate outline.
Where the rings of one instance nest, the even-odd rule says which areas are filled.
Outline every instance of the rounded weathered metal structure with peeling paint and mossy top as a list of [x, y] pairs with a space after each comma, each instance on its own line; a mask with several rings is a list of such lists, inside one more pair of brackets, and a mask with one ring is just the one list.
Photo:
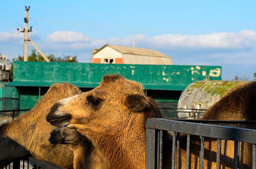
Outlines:
[[196, 81], [182, 92], [177, 107], [208, 109], [238, 83], [241, 81]]

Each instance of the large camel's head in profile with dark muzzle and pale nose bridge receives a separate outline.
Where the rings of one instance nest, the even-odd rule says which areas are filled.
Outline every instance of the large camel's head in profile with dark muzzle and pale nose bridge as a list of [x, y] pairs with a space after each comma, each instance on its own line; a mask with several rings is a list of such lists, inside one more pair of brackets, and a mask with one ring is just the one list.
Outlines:
[[144, 127], [145, 117], [159, 118], [161, 113], [143, 87], [123, 76], [108, 75], [93, 90], [56, 102], [46, 120], [56, 127], [112, 135], [137, 123]]

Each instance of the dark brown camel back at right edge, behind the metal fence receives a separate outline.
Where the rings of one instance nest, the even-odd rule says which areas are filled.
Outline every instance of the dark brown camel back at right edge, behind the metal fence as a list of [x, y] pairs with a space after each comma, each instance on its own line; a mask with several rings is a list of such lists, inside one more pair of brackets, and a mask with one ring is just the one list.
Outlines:
[[[225, 95], [220, 98], [218, 102], [210, 107], [208, 111], [202, 116], [202, 119], [206, 120], [247, 120], [256, 121], [256, 81], [249, 81], [239, 83]], [[228, 164], [233, 163], [233, 152], [226, 151], [227, 149], [233, 149], [234, 141], [223, 140], [222, 145], [225, 145], [225, 149], [222, 149], [224, 159]], [[211, 142], [212, 150], [216, 149], [216, 141]], [[251, 168], [252, 165], [252, 146], [251, 144], [240, 144], [240, 163], [241, 168]], [[214, 155], [214, 154], [212, 154]]]

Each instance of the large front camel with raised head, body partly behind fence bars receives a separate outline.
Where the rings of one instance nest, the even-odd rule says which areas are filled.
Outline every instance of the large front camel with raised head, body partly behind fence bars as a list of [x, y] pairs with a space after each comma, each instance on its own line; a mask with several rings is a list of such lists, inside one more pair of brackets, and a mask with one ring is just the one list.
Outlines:
[[[57, 127], [77, 129], [90, 139], [105, 168], [141, 169], [145, 168], [145, 118], [148, 117], [162, 116], [156, 102], [144, 95], [143, 87], [122, 76], [111, 75], [104, 76], [100, 86], [92, 91], [56, 102], [46, 120]], [[163, 134], [163, 168], [169, 168], [172, 138], [166, 131]], [[216, 168], [216, 149], [212, 150], [215, 144], [215, 139], [205, 139], [204, 168]], [[181, 168], [184, 168], [185, 145], [181, 141]], [[233, 149], [224, 150], [233, 153]], [[199, 141], [191, 143], [190, 152], [189, 168], [199, 168]], [[222, 155], [222, 168], [232, 168], [230, 160]], [[246, 167], [247, 164], [241, 164], [241, 168]]]

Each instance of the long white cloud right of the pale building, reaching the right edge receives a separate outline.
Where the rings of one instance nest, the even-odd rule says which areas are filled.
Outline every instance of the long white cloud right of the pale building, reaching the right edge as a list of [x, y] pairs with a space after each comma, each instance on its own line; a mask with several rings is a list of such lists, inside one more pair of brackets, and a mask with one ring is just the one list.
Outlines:
[[256, 46], [256, 32], [243, 30], [238, 33], [211, 33], [206, 35], [159, 35], [148, 38], [160, 48], [219, 48], [244, 49]]

